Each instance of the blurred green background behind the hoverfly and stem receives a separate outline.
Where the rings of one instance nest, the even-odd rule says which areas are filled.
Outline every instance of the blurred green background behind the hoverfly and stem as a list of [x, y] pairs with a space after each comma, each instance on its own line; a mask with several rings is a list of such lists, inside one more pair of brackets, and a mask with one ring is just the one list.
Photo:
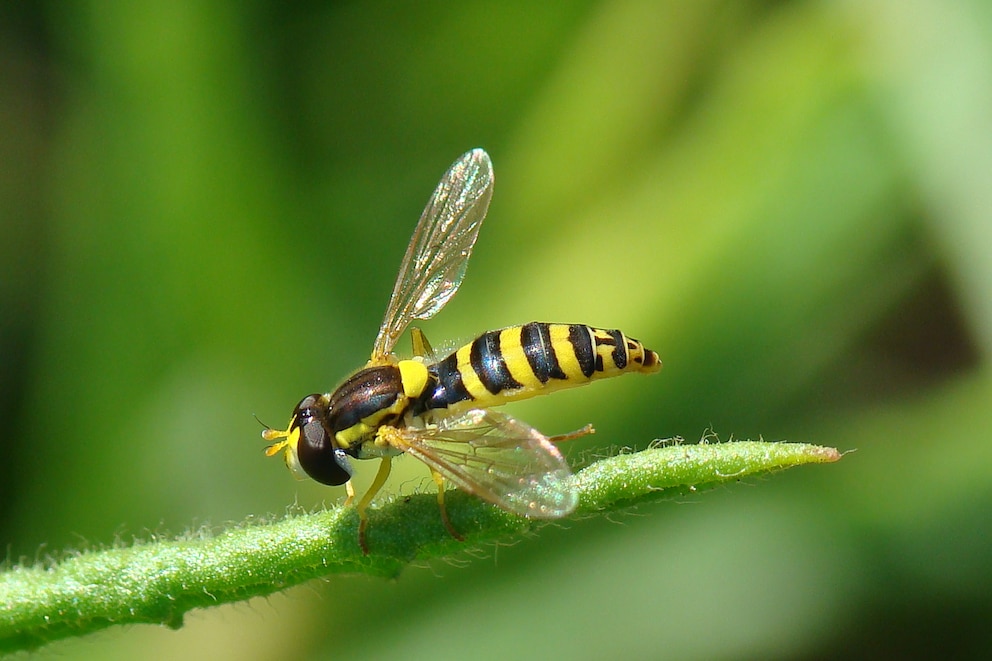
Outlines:
[[3, 3], [8, 562], [337, 502], [252, 414], [363, 363], [476, 146], [495, 197], [435, 346], [583, 322], [665, 363], [510, 412], [595, 423], [573, 460], [708, 429], [856, 451], [39, 658], [987, 653], [981, 0]]

